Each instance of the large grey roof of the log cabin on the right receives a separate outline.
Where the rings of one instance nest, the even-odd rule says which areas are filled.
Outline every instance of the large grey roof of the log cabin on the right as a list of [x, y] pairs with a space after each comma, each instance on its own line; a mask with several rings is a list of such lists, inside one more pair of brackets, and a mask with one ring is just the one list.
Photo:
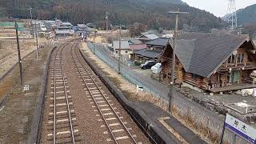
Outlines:
[[[209, 78], [244, 42], [247, 35], [181, 33], [176, 55], [186, 72]], [[173, 40], [166, 48], [173, 46]], [[254, 47], [255, 48], [255, 47]]]

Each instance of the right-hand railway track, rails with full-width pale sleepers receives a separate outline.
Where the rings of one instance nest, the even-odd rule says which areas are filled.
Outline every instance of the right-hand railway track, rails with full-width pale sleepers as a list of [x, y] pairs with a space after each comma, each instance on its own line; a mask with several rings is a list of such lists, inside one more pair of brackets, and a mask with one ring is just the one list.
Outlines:
[[79, 78], [84, 83], [86, 95], [92, 101], [90, 103], [94, 104], [93, 107], [97, 108], [105, 123], [102, 127], [107, 127], [108, 131], [105, 131], [104, 134], [109, 134], [110, 138], [106, 140], [114, 143], [142, 143], [136, 142], [136, 134], [131, 134], [131, 129], [126, 126], [127, 122], [124, 122], [123, 117], [119, 115], [108, 95], [94, 79], [89, 66], [84, 62], [81, 54], [78, 53], [77, 46], [78, 44], [71, 47], [71, 58]]

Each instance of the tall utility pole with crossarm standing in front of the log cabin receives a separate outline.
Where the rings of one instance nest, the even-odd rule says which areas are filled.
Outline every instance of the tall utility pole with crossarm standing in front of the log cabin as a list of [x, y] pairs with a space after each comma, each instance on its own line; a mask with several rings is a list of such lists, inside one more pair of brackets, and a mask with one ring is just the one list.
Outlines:
[[178, 11], [168, 11], [168, 14], [176, 14], [176, 24], [175, 24], [175, 30], [174, 30], [174, 46], [173, 46], [173, 56], [172, 56], [172, 69], [171, 69], [171, 82], [170, 82], [170, 92], [168, 94], [169, 96], [169, 111], [171, 111], [172, 107], [172, 99], [174, 96], [174, 73], [175, 73], [175, 48], [176, 48], [176, 42], [177, 42], [177, 33], [178, 33], [178, 15], [179, 14], [189, 14], [187, 12], [180, 12], [179, 9]]

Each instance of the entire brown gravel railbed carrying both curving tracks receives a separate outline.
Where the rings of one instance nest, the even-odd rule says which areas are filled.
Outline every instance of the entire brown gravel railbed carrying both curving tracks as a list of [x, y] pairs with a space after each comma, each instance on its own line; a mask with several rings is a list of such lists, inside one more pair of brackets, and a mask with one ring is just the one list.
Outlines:
[[66, 42], [51, 55], [41, 143], [149, 143], [82, 58], [79, 44]]

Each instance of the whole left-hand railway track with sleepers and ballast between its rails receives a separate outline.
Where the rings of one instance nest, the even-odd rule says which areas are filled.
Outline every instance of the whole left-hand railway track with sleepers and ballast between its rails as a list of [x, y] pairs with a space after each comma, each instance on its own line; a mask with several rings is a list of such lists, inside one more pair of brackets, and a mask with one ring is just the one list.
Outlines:
[[54, 50], [50, 75], [50, 113], [48, 140], [52, 143], [79, 142], [78, 125], [73, 110], [72, 97], [68, 79], [62, 62], [62, 50], [69, 44], [64, 44]]

